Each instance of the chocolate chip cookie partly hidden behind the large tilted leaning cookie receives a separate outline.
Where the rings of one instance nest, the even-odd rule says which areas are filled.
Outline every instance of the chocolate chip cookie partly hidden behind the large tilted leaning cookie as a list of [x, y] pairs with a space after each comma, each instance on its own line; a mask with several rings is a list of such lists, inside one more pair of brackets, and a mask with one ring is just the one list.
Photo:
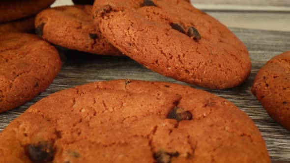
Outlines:
[[36, 33], [49, 42], [93, 54], [122, 55], [96, 30], [92, 5], [49, 8], [35, 19]]

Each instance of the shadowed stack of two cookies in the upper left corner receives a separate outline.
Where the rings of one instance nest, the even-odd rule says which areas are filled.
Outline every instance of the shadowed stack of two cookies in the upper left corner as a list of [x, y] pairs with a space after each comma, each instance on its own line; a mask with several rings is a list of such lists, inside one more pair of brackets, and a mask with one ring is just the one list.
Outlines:
[[0, 32], [32, 32], [35, 15], [55, 0], [2, 0]]

